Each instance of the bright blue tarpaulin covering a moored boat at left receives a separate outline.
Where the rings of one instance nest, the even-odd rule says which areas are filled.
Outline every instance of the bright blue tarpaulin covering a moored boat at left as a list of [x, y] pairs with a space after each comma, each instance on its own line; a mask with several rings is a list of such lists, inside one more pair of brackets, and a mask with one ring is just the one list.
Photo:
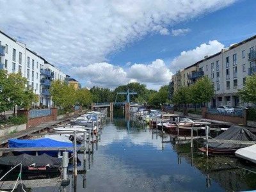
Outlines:
[[[60, 147], [60, 148], [65, 148], [65, 147], [74, 147], [73, 143], [68, 143], [68, 142], [61, 142], [61, 141], [56, 141], [56, 140], [51, 140], [49, 138], [42, 138], [42, 139], [37, 139], [37, 140], [17, 140], [17, 139], [12, 139], [8, 140], [8, 144], [10, 148], [25, 148], [25, 147]], [[80, 145], [79, 145], [80, 146]], [[78, 147], [78, 145], [77, 145]], [[72, 152], [72, 151], [68, 151]], [[26, 154], [35, 154], [35, 152], [24, 152]], [[48, 154], [49, 156], [57, 156], [58, 150], [56, 151], [38, 151], [38, 155], [40, 154]]]

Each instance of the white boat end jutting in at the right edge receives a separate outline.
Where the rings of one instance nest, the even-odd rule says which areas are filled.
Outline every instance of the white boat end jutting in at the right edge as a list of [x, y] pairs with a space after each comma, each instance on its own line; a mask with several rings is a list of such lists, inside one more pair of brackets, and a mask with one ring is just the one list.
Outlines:
[[256, 145], [239, 148], [235, 152], [237, 157], [256, 163]]

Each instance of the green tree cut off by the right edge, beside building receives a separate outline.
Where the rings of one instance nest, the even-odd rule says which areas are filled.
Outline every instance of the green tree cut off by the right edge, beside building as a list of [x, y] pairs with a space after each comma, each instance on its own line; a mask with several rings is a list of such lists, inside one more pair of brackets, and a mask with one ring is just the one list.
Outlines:
[[239, 90], [239, 95], [244, 102], [256, 104], [256, 74], [246, 77], [246, 83], [243, 89]]

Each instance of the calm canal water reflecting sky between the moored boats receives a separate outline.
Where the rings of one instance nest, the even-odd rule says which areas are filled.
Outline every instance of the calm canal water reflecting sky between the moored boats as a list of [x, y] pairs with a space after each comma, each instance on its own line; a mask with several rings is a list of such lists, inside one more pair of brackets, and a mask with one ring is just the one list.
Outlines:
[[[104, 126], [94, 154], [86, 154], [86, 175], [78, 175], [67, 191], [244, 191], [256, 189], [256, 174], [237, 168], [234, 157], [206, 159], [191, 152], [190, 143], [170, 141], [140, 122], [122, 115]], [[79, 154], [83, 161], [83, 155]], [[89, 160], [90, 159], [90, 160]], [[83, 163], [79, 167], [83, 169]], [[72, 175], [69, 175], [72, 178]], [[60, 191], [35, 188], [31, 191]]]

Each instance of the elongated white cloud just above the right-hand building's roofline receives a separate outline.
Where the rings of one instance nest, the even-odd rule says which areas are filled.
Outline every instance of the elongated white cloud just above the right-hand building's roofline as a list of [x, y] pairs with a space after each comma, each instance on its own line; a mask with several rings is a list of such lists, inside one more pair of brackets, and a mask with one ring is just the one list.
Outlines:
[[221, 51], [224, 48], [224, 45], [218, 42], [217, 40], [209, 41], [208, 44], [202, 44], [195, 49], [189, 51], [182, 51], [180, 55], [173, 59], [171, 62], [172, 71], [179, 70], [180, 68], [188, 67], [193, 65], [197, 61], [200, 61], [204, 56], [210, 56], [212, 54]]

